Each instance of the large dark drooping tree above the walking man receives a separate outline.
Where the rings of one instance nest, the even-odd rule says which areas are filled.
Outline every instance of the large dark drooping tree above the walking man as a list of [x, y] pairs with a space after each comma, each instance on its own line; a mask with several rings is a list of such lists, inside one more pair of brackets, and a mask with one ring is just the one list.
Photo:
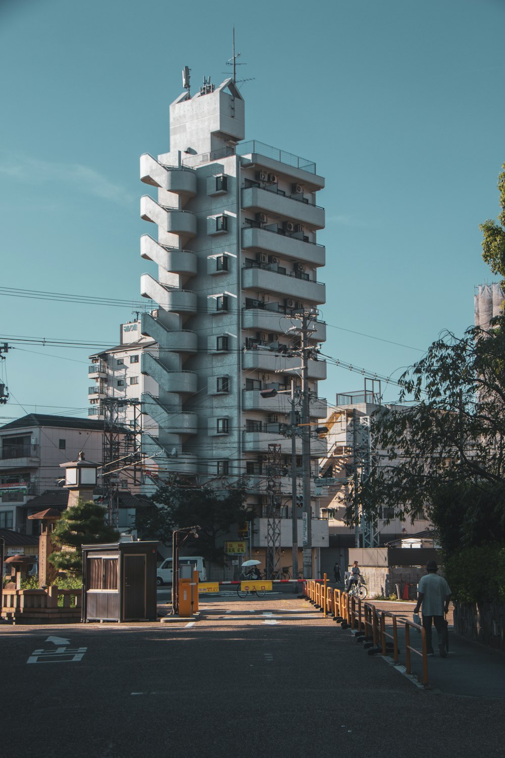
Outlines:
[[[446, 333], [401, 377], [401, 401], [376, 412], [377, 455], [357, 493], [374, 521], [428, 511], [447, 550], [505, 537], [505, 315]], [[356, 494], [356, 493], [354, 493]], [[352, 517], [351, 508], [349, 517]]]

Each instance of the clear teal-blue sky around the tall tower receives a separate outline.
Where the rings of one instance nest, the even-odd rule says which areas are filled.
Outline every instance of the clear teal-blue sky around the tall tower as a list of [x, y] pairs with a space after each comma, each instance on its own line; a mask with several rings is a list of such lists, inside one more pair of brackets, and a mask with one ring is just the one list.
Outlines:
[[[390, 375], [472, 324], [474, 286], [493, 280], [479, 223], [505, 161], [503, 0], [3, 0], [1, 284], [140, 299], [139, 155], [169, 148], [185, 64], [195, 85], [225, 78], [233, 23], [254, 77], [246, 139], [326, 177], [325, 352]], [[0, 296], [0, 337], [113, 345], [131, 316]], [[0, 414], [86, 415], [93, 349], [30, 350], [8, 354]], [[362, 387], [329, 368], [320, 394]]]

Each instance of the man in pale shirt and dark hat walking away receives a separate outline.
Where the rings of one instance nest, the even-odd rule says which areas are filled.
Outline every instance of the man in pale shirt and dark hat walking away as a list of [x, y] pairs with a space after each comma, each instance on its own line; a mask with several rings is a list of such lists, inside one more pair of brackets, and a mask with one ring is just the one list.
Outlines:
[[440, 656], [447, 658], [444, 614], [449, 609], [450, 587], [444, 577], [437, 574], [438, 565], [436, 561], [428, 561], [426, 571], [428, 573], [420, 579], [417, 585], [417, 603], [414, 613], [419, 613], [419, 608], [422, 606], [422, 625], [426, 629], [428, 655], [433, 655], [432, 623], [434, 623], [438, 634]]

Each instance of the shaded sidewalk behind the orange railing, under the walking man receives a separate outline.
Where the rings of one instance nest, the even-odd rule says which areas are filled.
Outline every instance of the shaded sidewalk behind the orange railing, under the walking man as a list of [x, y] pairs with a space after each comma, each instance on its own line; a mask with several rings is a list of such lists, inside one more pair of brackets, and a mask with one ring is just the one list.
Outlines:
[[[374, 601], [372, 601], [374, 602]], [[412, 619], [414, 603], [382, 603], [375, 601], [376, 608], [387, 609], [398, 616]], [[386, 619], [391, 621], [391, 619]], [[452, 622], [452, 615], [449, 616]], [[433, 649], [435, 655], [428, 656], [429, 684], [435, 690], [451, 695], [468, 697], [505, 698], [505, 655], [499, 650], [479, 644], [454, 633], [449, 625], [449, 654], [441, 658], [438, 653], [438, 634], [433, 629]], [[398, 625], [400, 664], [405, 666], [404, 625]], [[421, 650], [421, 635], [410, 631], [410, 644]], [[421, 656], [411, 655], [412, 671], [422, 678]]]

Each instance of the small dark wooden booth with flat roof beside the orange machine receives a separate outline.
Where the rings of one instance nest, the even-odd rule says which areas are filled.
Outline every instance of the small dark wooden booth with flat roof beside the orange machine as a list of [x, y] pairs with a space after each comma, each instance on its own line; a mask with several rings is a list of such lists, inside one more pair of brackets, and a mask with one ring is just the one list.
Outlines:
[[83, 545], [83, 622], [156, 620], [157, 544]]

